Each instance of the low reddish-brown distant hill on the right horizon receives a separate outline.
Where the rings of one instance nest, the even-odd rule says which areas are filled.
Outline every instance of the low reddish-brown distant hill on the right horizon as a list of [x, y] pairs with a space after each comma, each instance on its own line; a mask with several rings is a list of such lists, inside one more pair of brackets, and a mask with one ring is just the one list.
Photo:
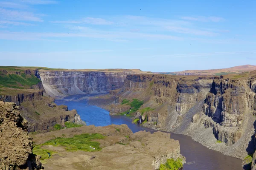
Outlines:
[[204, 75], [204, 76], [220, 76], [226, 74], [241, 74], [256, 70], [256, 65], [240, 65], [231, 68], [220, 68], [212, 70], [185, 70], [177, 72], [155, 72], [157, 74], [172, 74], [172, 75]]

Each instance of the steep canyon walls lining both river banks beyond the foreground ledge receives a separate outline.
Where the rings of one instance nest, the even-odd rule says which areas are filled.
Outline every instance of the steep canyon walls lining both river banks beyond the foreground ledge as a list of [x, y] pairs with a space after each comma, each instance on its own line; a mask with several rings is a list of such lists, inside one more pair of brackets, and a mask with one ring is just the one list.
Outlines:
[[[91, 96], [90, 102], [111, 115], [120, 115], [129, 112], [131, 101], [137, 99], [143, 104], [128, 116], [141, 126], [191, 136], [210, 149], [242, 160], [256, 149], [255, 71], [220, 76], [152, 74], [139, 70], [25, 72], [41, 81], [31, 89], [17, 89], [9, 94], [4, 93], [8, 89], [4, 87], [0, 100], [15, 102], [23, 108], [20, 113], [28, 119], [30, 132], [47, 132], [67, 121], [82, 124], [76, 111], [55, 105], [51, 97], [109, 92]], [[52, 112], [55, 114], [51, 115]], [[252, 164], [243, 164], [255, 168], [255, 156]]]

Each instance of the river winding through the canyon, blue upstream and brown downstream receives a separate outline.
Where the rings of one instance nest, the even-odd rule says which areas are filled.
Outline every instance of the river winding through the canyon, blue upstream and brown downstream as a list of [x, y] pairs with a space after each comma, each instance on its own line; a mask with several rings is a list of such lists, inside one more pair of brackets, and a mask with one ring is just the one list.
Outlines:
[[[87, 125], [107, 126], [111, 124], [126, 124], [135, 133], [140, 130], [154, 132], [146, 127], [141, 127], [131, 123], [131, 119], [125, 116], [110, 116], [109, 112], [87, 104], [87, 95], [68, 96], [64, 99], [57, 99], [57, 105], [67, 105], [69, 110], [76, 109], [81, 119]], [[230, 156], [225, 156], [215, 150], [210, 150], [202, 144], [195, 142], [191, 137], [171, 133], [171, 138], [180, 142], [180, 153], [186, 157], [186, 164], [183, 170], [242, 170], [241, 160]]]

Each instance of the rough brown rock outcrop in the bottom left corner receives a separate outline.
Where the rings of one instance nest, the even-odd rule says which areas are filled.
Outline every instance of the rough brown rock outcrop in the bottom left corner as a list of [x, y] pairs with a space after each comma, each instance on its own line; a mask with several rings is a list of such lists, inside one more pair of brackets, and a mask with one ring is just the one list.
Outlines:
[[32, 154], [27, 122], [15, 103], [0, 101], [0, 169], [41, 169], [40, 156]]

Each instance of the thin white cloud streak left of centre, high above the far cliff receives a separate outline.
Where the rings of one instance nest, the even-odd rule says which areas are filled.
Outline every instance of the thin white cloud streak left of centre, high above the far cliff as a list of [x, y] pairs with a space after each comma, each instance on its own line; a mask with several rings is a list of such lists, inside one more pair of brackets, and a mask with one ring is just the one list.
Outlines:
[[93, 18], [93, 17], [86, 17], [81, 20], [51, 21], [50, 23], [60, 23], [60, 24], [85, 23], [85, 24], [92, 24], [92, 25], [111, 25], [111, 24], [113, 24], [113, 22], [105, 20], [103, 18]]

